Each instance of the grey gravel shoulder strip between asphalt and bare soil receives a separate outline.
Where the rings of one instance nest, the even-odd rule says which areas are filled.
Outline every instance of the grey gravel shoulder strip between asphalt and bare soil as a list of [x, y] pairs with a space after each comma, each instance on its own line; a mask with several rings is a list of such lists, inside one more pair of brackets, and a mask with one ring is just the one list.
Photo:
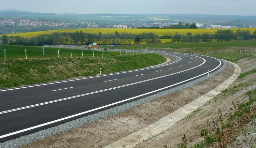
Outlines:
[[[176, 60], [177, 60], [177, 58], [176, 58]], [[210, 77], [216, 75], [219, 72], [222, 72], [226, 68], [226, 66], [227, 66], [226, 62], [224, 60], [222, 60], [222, 61], [224, 62], [224, 65], [220, 69], [218, 69], [217, 71], [211, 73]], [[137, 101], [133, 101], [133, 102], [130, 102], [130, 103], [127, 103], [127, 104], [124, 104], [124, 105], [120, 105], [120, 106], [117, 106], [117, 107], [114, 107], [114, 108], [110, 108], [110, 109], [104, 110], [102, 112], [93, 114], [93, 115], [89, 115], [89, 116], [86, 116], [86, 117], [83, 117], [83, 118], [80, 118], [80, 119], [76, 119], [76, 120], [61, 124], [61, 125], [57, 125], [57, 126], [52, 127], [52, 128], [48, 128], [48, 129], [45, 129], [45, 130], [42, 130], [42, 131], [39, 131], [39, 132], [35, 132], [33, 134], [22, 136], [22, 137], [19, 137], [19, 138], [1, 143], [0, 147], [2, 147], [2, 148], [7, 148], [8, 147], [9, 148], [9, 147], [26, 146], [28, 144], [31, 144], [31, 143], [36, 142], [38, 140], [42, 140], [42, 139], [47, 138], [49, 136], [54, 136], [54, 135], [57, 135], [57, 134], [60, 134], [60, 133], [63, 133], [63, 132], [67, 132], [67, 131], [72, 130], [72, 129], [81, 128], [84, 124], [89, 124], [89, 123], [92, 123], [92, 122], [95, 122], [95, 121], [98, 121], [98, 120], [103, 120], [103, 119], [112, 117], [112, 116], [117, 115], [119, 113], [123, 113], [129, 108], [132, 108], [132, 107], [135, 107], [135, 106], [138, 106], [138, 105], [142, 105], [142, 104], [146, 104], [147, 102], [150, 102], [150, 101], [155, 100], [157, 98], [164, 97], [166, 95], [169, 95], [169, 94], [174, 93], [176, 91], [179, 91], [181, 89], [191, 87], [191, 86], [196, 85], [200, 82], [203, 82], [204, 80], [206, 80], [208, 78], [209, 77], [206, 75], [206, 76], [203, 76], [203, 77], [198, 78], [196, 80], [193, 80], [189, 83], [177, 86], [175, 88], [172, 88], [172, 89], [169, 89], [169, 90], [166, 90], [166, 91], [159, 92], [157, 94], [151, 95], [149, 97], [145, 97], [145, 98], [137, 100]]]

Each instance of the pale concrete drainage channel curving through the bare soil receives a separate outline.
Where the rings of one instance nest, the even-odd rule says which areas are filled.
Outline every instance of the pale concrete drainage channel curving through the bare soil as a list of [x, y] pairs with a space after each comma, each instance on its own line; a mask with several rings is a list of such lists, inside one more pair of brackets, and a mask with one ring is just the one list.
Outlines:
[[[227, 61], [227, 62], [229, 62], [229, 61]], [[232, 62], [230, 62], [230, 63], [233, 64], [233, 66], [235, 67], [233, 75], [230, 76], [228, 79], [226, 79], [222, 84], [217, 86], [215, 89], [209, 91], [208, 93], [202, 95], [201, 97], [188, 103], [187, 105], [175, 110], [173, 113], [161, 118], [160, 120], [156, 121], [155, 123], [152, 123], [137, 132], [134, 132], [126, 137], [123, 137], [122, 139], [119, 139], [119, 140], [107, 145], [105, 148], [135, 147], [139, 143], [142, 143], [143, 140], [148, 139], [149, 136], [155, 136], [155, 135], [159, 134], [160, 132], [165, 131], [168, 128], [170, 128], [174, 123], [181, 120], [186, 115], [190, 114], [191, 112], [196, 110], [198, 107], [200, 107], [204, 103], [211, 100], [213, 97], [215, 97], [221, 91], [228, 88], [229, 85], [232, 84], [234, 82], [234, 80], [237, 79], [237, 77], [240, 75], [240, 67], [235, 63], [232, 63]]]

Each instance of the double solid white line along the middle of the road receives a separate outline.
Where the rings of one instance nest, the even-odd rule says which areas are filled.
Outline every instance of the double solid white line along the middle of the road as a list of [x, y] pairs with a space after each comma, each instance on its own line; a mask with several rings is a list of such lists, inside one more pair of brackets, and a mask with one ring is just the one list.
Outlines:
[[[201, 58], [201, 57], [199, 57], [199, 58]], [[201, 58], [201, 59], [203, 59], [203, 58]], [[54, 103], [54, 102], [59, 102], [59, 101], [68, 100], [68, 99], [73, 99], [73, 98], [77, 98], [77, 97], [82, 97], [82, 96], [89, 95], [89, 94], [94, 94], [94, 93], [98, 93], [98, 92], [103, 92], [103, 91], [108, 91], [108, 90], [117, 89], [117, 88], [121, 88], [121, 87], [126, 87], [126, 86], [130, 86], [130, 85], [139, 84], [139, 83], [142, 83], [142, 82], [147, 82], [147, 81], [150, 81], [150, 80], [154, 80], [154, 79], [158, 79], [158, 78], [162, 78], [162, 77], [174, 75], [174, 74], [177, 74], [177, 73], [182, 73], [182, 72], [184, 72], [184, 71], [188, 71], [188, 70], [197, 68], [198, 66], [201, 66], [202, 64], [205, 63], [205, 61], [206, 61], [206, 60], [203, 59], [203, 63], [201, 63], [200, 65], [197, 65], [197, 66], [195, 66], [195, 67], [193, 67], [193, 68], [186, 69], [186, 70], [183, 70], [183, 71], [180, 71], [180, 72], [176, 72], [176, 73], [172, 73], [172, 74], [168, 74], [168, 75], [164, 75], [164, 76], [160, 76], [160, 77], [156, 77], [156, 78], [147, 79], [147, 80], [143, 80], [143, 81], [140, 81], [140, 82], [135, 82], [135, 83], [131, 83], [131, 84], [126, 84], [126, 85], [122, 85], [122, 86], [117, 86], [117, 87], [113, 87], [113, 88], [108, 88], [108, 89], [104, 89], [104, 90], [99, 90], [99, 91], [95, 91], [95, 92], [89, 92], [89, 93], [85, 93], [85, 94], [80, 94], [80, 95], [76, 95], [76, 96], [73, 96], [73, 97], [58, 99], [58, 100], [49, 101], [49, 102], [44, 102], [44, 103], [39, 103], [39, 104], [34, 104], [34, 105], [29, 105], [29, 106], [20, 107], [20, 108], [15, 108], [15, 109], [11, 109], [11, 110], [5, 110], [5, 111], [3, 111], [3, 112], [0, 112], [0, 114], [5, 114], [5, 113], [9, 113], [9, 112], [14, 112], [14, 111], [17, 111], [17, 110], [21, 110], [21, 109], [26, 109], [26, 108], [31, 108], [31, 107], [35, 107], [35, 106], [45, 105], [45, 104]]]

